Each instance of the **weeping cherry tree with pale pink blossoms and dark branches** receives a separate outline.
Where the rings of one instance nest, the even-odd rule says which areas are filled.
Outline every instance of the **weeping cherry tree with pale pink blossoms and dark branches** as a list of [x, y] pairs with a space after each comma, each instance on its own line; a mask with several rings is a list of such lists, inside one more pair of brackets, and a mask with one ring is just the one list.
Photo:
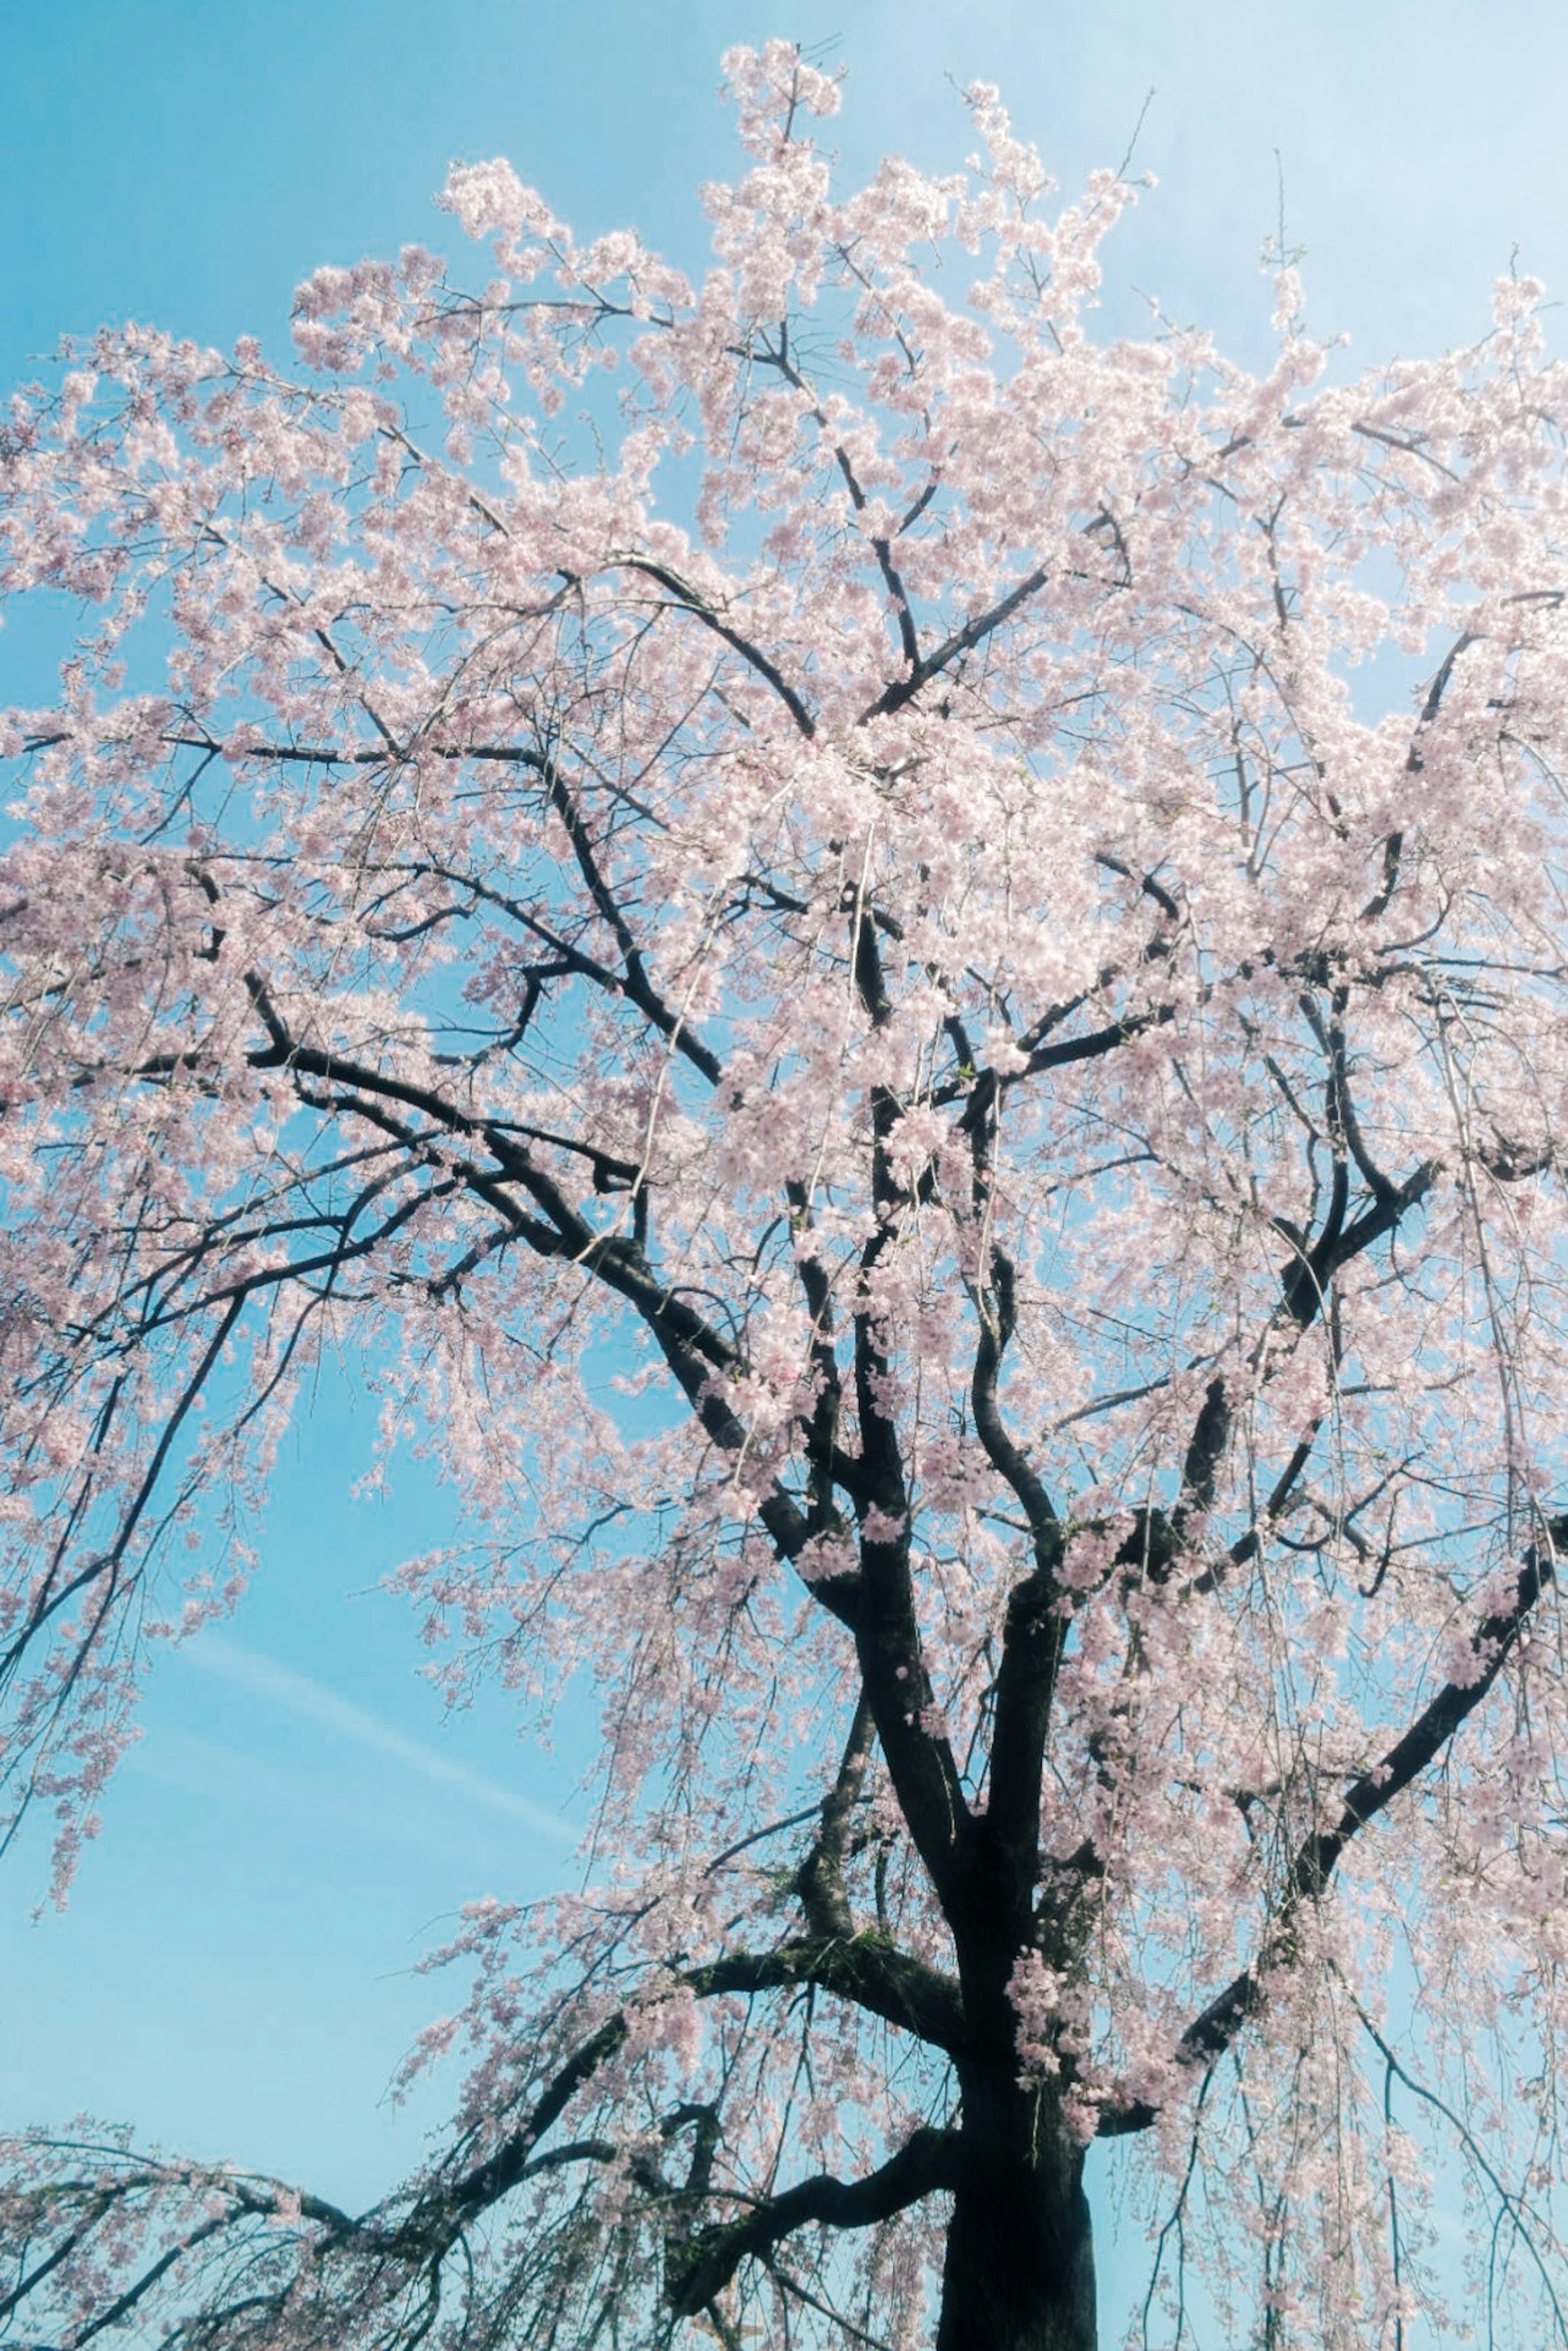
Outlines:
[[973, 87], [839, 193], [835, 82], [724, 71], [701, 284], [463, 165], [477, 292], [9, 407], [85, 611], [0, 743], [9, 1817], [68, 1874], [324, 1352], [451, 1481], [451, 1686], [604, 1747], [402, 2193], [21, 2137], [0, 2318], [1088, 2351], [1117, 2163], [1145, 2342], [1568, 2342], [1540, 287], [1095, 343], [1117, 174]]

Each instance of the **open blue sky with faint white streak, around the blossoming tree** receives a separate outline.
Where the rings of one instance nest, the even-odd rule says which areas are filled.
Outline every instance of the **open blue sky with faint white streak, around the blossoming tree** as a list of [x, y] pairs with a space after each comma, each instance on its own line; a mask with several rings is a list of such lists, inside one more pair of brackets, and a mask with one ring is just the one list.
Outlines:
[[[581, 228], [691, 263], [731, 172], [717, 59], [835, 40], [846, 167], [966, 148], [947, 75], [1001, 82], [1072, 186], [1159, 174], [1110, 254], [1138, 296], [1260, 357], [1258, 252], [1307, 247], [1319, 327], [1366, 360], [1469, 341], [1519, 263], [1568, 289], [1568, 7], [1554, 0], [0, 0], [0, 386], [61, 331], [139, 315], [282, 341], [320, 261], [395, 252], [451, 158], [505, 153]], [[38, 701], [26, 632], [0, 698]], [[284, 1455], [263, 1573], [226, 1636], [167, 1660], [63, 1918], [40, 1848], [0, 1881], [0, 2118], [89, 2106], [341, 2201], [404, 2168], [440, 2099], [376, 2102], [456, 1987], [409, 1975], [477, 1893], [559, 1876], [574, 1759], [501, 1702], [442, 1723], [378, 1575], [444, 1528], [409, 1474], [353, 1505], [367, 1413], [329, 1387]]]

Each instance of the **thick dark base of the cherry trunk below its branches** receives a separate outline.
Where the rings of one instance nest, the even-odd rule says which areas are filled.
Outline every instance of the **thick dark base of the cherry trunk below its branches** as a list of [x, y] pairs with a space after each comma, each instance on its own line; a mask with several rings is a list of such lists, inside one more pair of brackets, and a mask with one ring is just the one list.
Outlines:
[[1056, 2099], [964, 2074], [961, 2182], [936, 2351], [1095, 2351], [1084, 2149]]

